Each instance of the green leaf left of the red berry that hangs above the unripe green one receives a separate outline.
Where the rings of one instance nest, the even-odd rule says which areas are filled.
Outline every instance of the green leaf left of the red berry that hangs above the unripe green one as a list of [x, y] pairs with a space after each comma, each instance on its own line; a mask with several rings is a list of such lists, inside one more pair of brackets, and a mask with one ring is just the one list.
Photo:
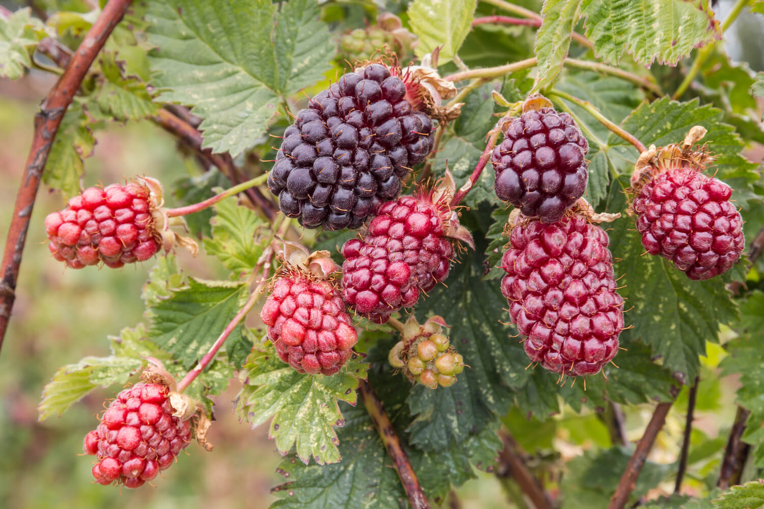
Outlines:
[[147, 310], [151, 317], [148, 336], [188, 369], [238, 313], [239, 300], [246, 292], [241, 283], [190, 278], [188, 286]]

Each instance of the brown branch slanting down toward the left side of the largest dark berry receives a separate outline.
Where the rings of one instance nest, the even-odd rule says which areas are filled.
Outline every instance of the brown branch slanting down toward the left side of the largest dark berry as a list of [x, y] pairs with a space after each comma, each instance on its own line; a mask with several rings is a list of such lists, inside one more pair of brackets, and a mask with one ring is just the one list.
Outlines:
[[[202, 148], [202, 133], [191, 124], [165, 109], [161, 109], [152, 120], [163, 127], [164, 130], [179, 138], [183, 143], [186, 143], [186, 146], [198, 153], [202, 159], [216, 166], [231, 183], [235, 185], [241, 183], [241, 178], [239, 177], [240, 170], [233, 162], [233, 159], [231, 159], [231, 156], [227, 153], [212, 153], [212, 150]], [[259, 189], [248, 188], [244, 193], [253, 205], [265, 214], [268, 221], [274, 220], [277, 207]]]

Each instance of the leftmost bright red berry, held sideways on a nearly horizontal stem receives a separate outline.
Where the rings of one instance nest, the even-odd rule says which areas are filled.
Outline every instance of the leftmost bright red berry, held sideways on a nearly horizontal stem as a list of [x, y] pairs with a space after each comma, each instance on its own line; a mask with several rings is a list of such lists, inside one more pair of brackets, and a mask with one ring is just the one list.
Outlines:
[[87, 188], [63, 211], [45, 218], [48, 249], [73, 269], [99, 262], [113, 268], [154, 256], [160, 237], [152, 227], [149, 190], [112, 184]]

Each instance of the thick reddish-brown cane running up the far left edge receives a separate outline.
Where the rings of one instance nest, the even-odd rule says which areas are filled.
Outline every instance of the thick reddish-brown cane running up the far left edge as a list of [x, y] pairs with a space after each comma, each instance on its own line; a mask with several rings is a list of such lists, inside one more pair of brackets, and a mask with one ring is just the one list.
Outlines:
[[5, 253], [2, 261], [2, 279], [0, 279], [0, 348], [11, 319], [11, 308], [16, 298], [16, 282], [27, 239], [29, 220], [37, 198], [37, 188], [43, 175], [45, 163], [50, 155], [50, 148], [56, 138], [66, 108], [69, 108], [74, 95], [79, 89], [95, 56], [103, 47], [109, 34], [125, 15], [131, 0], [109, 0], [98, 19], [92, 24], [83, 42], [79, 44], [63, 75], [53, 89], [48, 92], [40, 104], [40, 111], [34, 117], [34, 134], [31, 149], [24, 166], [16, 195], [11, 227], [5, 241]]

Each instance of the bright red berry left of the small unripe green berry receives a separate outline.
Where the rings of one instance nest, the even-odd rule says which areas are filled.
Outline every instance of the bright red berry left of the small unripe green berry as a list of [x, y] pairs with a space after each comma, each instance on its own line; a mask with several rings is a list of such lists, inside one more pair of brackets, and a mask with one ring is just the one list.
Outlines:
[[279, 358], [300, 373], [338, 372], [358, 342], [358, 333], [332, 282], [301, 269], [280, 275], [260, 316]]

